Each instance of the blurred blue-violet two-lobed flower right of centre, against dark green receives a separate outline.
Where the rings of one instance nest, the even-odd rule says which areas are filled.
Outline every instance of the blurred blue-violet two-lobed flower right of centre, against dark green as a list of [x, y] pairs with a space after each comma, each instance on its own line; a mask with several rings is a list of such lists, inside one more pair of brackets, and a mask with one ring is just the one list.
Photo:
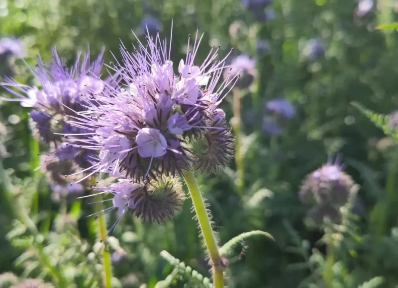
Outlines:
[[267, 114], [263, 119], [263, 130], [273, 135], [283, 133], [283, 125], [295, 116], [295, 107], [289, 101], [279, 98], [266, 104]]

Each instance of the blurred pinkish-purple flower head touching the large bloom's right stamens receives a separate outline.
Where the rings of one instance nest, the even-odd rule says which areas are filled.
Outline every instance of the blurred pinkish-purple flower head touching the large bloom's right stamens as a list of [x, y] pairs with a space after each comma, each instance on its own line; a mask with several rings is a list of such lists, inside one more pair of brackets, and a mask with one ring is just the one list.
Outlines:
[[240, 88], [247, 88], [253, 82], [256, 74], [256, 61], [242, 54], [232, 59], [231, 68], [226, 68], [223, 76], [224, 79], [228, 79], [231, 76], [240, 75], [237, 85]]

